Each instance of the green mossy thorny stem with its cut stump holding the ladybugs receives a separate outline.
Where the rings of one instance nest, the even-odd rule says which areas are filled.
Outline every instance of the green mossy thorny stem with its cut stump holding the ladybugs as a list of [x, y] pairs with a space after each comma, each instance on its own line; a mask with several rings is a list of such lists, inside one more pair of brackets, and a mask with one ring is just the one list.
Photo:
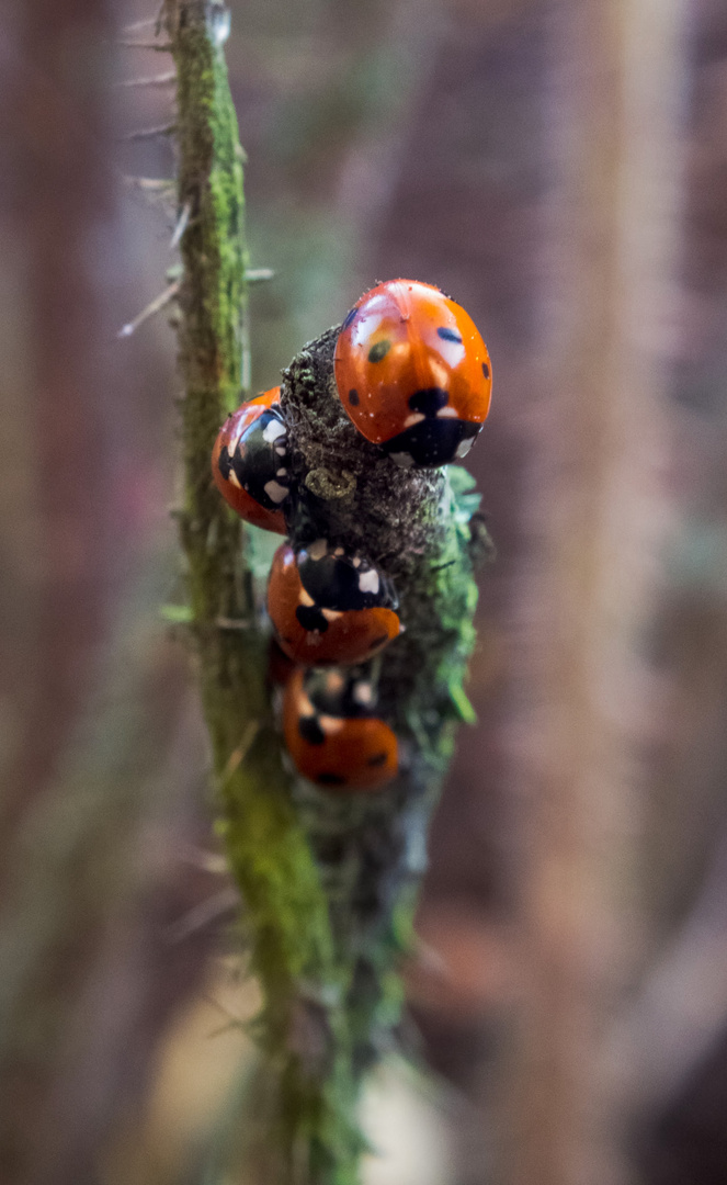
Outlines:
[[[178, 71], [186, 217], [180, 534], [219, 830], [264, 993], [257, 1032], [269, 1089], [257, 1142], [266, 1183], [354, 1185], [361, 1076], [398, 1019], [397, 961], [410, 946], [426, 825], [455, 726], [471, 717], [463, 678], [474, 643], [477, 500], [463, 470], [404, 472], [359, 436], [335, 393], [337, 329], [294, 360], [282, 396], [301, 491], [291, 533], [304, 523], [381, 563], [407, 632], [377, 665], [381, 709], [401, 739], [401, 776], [373, 798], [291, 782], [265, 686], [268, 634], [247, 532], [210, 473], [218, 428], [247, 386], [244, 155], [223, 52], [229, 14], [219, 0], [167, 0], [162, 20]], [[230, 628], [236, 622], [242, 628]]]

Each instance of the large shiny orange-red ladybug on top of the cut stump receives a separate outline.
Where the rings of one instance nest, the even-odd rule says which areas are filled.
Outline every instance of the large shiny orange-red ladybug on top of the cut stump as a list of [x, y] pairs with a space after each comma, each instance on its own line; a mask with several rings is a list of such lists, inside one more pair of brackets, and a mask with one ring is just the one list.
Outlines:
[[465, 456], [490, 408], [487, 346], [433, 284], [387, 280], [365, 293], [343, 321], [334, 370], [355, 427], [405, 469]]

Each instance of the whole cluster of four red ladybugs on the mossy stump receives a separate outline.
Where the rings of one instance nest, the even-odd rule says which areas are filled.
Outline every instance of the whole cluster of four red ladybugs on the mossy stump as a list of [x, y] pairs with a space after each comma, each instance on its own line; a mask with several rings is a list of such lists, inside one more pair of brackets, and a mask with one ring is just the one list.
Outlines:
[[[392, 280], [366, 293], [343, 321], [334, 371], [355, 428], [405, 468], [464, 456], [489, 411], [487, 347], [464, 309], [431, 284]], [[243, 519], [287, 536], [296, 491], [279, 393], [272, 387], [227, 418], [212, 474]], [[292, 671], [279, 680], [283, 732], [296, 768], [319, 786], [378, 790], [397, 773], [397, 737], [359, 667], [398, 636], [397, 610], [391, 581], [365, 555], [323, 538], [275, 553], [276, 668]]]

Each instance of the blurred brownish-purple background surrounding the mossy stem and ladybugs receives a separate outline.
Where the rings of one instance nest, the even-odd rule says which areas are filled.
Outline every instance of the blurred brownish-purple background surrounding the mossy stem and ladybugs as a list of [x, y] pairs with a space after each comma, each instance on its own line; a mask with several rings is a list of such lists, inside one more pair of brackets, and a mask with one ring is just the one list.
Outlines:
[[[0, 1180], [197, 1185], [256, 1007], [181, 595], [153, 0], [0, 0]], [[494, 359], [498, 549], [371, 1185], [727, 1181], [727, 12], [232, 0], [253, 385], [374, 281]], [[135, 24], [142, 21], [142, 24]], [[131, 26], [131, 27], [129, 27]], [[427, 1076], [424, 1066], [430, 1068]]]

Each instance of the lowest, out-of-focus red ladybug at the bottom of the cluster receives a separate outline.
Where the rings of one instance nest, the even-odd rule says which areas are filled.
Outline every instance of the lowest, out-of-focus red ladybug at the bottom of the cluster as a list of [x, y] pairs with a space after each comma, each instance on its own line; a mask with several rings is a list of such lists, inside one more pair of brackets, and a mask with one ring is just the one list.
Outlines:
[[355, 704], [359, 684], [359, 694], [371, 693], [369, 684], [345, 672], [297, 670], [283, 700], [283, 734], [295, 767], [328, 789], [379, 790], [399, 767], [395, 734], [365, 705], [350, 716], [330, 713], [326, 681], [334, 685], [333, 700], [340, 709], [340, 697]]

